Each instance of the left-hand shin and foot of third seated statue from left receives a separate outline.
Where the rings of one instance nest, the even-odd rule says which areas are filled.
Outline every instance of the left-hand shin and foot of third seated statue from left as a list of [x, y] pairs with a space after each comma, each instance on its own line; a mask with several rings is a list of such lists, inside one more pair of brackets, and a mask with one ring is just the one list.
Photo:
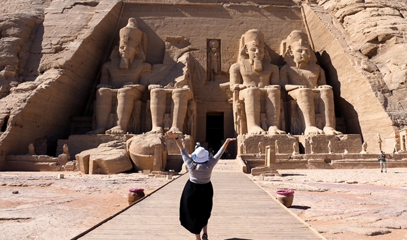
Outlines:
[[241, 91], [245, 101], [248, 134], [266, 134], [260, 127], [260, 89], [250, 87]]

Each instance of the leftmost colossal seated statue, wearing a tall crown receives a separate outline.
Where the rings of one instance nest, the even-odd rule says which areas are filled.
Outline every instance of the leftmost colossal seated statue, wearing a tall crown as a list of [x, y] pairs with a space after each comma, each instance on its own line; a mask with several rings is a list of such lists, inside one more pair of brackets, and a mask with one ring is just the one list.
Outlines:
[[[96, 93], [96, 129], [88, 134], [125, 134], [133, 112], [134, 101], [141, 100], [145, 85], [138, 84], [140, 77], [151, 72], [145, 63], [147, 37], [140, 31], [135, 18], [129, 18], [120, 29], [120, 44], [111, 54], [111, 62], [104, 64]], [[120, 55], [119, 55], [120, 53]], [[112, 118], [112, 102], [117, 95], [115, 124], [107, 130]], [[138, 114], [140, 117], [140, 114]]]

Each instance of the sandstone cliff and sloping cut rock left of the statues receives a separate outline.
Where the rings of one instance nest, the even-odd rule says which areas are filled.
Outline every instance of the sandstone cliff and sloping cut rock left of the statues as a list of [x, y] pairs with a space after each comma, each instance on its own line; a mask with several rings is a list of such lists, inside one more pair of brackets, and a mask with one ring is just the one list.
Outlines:
[[4, 153], [18, 153], [37, 138], [47, 138], [49, 145], [66, 138], [70, 118], [83, 114], [92, 79], [106, 55], [116, 5], [2, 1], [0, 44], [7, 50], [0, 53], [0, 71], [13, 86], [0, 100]]

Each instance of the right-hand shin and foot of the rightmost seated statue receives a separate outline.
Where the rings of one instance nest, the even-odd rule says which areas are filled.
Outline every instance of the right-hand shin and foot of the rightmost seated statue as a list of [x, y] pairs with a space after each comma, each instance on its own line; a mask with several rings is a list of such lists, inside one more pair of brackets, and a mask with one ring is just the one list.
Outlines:
[[333, 92], [330, 88], [320, 88], [321, 101], [324, 105], [325, 127], [327, 135], [341, 135], [343, 133], [335, 130], [335, 110], [333, 104]]

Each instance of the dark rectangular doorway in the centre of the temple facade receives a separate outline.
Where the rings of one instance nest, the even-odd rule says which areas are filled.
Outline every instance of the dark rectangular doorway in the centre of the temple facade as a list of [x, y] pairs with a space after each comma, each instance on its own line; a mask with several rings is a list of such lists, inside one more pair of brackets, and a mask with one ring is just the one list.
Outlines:
[[223, 137], [223, 112], [207, 113], [207, 142], [208, 149], [212, 147], [214, 152], [218, 152], [222, 146]]

